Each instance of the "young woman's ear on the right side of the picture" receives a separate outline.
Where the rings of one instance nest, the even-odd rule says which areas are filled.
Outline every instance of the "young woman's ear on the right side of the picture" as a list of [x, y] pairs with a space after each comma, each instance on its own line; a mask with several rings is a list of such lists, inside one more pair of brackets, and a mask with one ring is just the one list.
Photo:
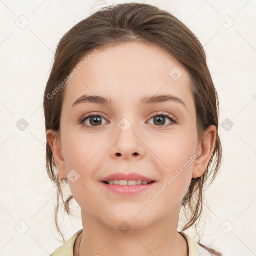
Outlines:
[[201, 152], [201, 154], [196, 158], [194, 162], [192, 175], [193, 178], [201, 177], [205, 172], [213, 150], [215, 148], [216, 134], [217, 130], [215, 125], [210, 125], [205, 130], [203, 135], [203, 141], [197, 147], [197, 150]]

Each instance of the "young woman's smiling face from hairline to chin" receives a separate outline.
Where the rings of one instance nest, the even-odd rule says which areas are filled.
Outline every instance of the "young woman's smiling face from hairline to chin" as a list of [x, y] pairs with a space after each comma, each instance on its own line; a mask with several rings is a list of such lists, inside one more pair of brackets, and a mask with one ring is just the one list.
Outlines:
[[[65, 87], [58, 175], [68, 178], [82, 213], [105, 225], [126, 221], [136, 229], [178, 216], [200, 154], [187, 71], [158, 46], [140, 42], [93, 56]], [[116, 173], [124, 176], [106, 178]], [[122, 186], [107, 179], [154, 182]]]

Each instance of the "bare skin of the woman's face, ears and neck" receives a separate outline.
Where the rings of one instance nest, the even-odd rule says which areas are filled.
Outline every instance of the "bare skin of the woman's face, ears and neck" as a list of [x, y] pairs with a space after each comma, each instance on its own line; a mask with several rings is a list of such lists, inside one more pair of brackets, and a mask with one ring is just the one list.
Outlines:
[[[216, 127], [211, 125], [199, 143], [196, 111], [186, 69], [156, 45], [125, 42], [99, 48], [99, 52], [79, 70], [65, 87], [60, 121], [60, 139], [48, 130], [58, 176], [67, 178], [71, 170], [79, 178], [70, 190], [81, 207], [83, 232], [77, 238], [75, 256], [187, 256], [185, 239], [178, 233], [181, 200], [192, 177], [205, 171], [215, 146]], [[175, 80], [174, 68], [182, 72]], [[111, 104], [73, 103], [82, 95], [111, 98]], [[143, 104], [145, 96], [173, 95], [169, 100]], [[169, 114], [177, 123], [163, 117]], [[93, 114], [79, 123], [83, 117]], [[102, 121], [93, 122], [97, 117]], [[118, 124], [126, 118], [130, 127]], [[91, 122], [90, 122], [91, 121]], [[121, 122], [123, 123], [123, 122]], [[200, 155], [166, 186], [178, 168]], [[155, 180], [136, 195], [109, 191], [100, 179], [116, 172], [136, 172]], [[152, 196], [165, 184], [160, 196]], [[130, 230], [118, 226], [126, 221]]]

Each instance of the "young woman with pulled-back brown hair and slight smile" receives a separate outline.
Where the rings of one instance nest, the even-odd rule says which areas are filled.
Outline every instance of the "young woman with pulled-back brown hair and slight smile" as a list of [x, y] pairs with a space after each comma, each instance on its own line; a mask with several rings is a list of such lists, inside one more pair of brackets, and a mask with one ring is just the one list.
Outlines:
[[221, 255], [183, 232], [199, 220], [221, 142], [205, 52], [176, 17], [125, 3], [80, 21], [57, 46], [44, 114], [57, 230], [60, 196], [68, 214], [76, 200], [83, 226], [53, 256]]

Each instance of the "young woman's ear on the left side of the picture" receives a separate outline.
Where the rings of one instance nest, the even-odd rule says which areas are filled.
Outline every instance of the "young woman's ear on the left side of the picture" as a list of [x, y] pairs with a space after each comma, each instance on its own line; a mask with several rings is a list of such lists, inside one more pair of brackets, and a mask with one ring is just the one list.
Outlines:
[[61, 141], [60, 139], [57, 139], [56, 134], [57, 132], [55, 130], [49, 129], [46, 131], [46, 138], [53, 153], [54, 161], [58, 170], [58, 176], [60, 178], [67, 178], [66, 165], [63, 158]]

